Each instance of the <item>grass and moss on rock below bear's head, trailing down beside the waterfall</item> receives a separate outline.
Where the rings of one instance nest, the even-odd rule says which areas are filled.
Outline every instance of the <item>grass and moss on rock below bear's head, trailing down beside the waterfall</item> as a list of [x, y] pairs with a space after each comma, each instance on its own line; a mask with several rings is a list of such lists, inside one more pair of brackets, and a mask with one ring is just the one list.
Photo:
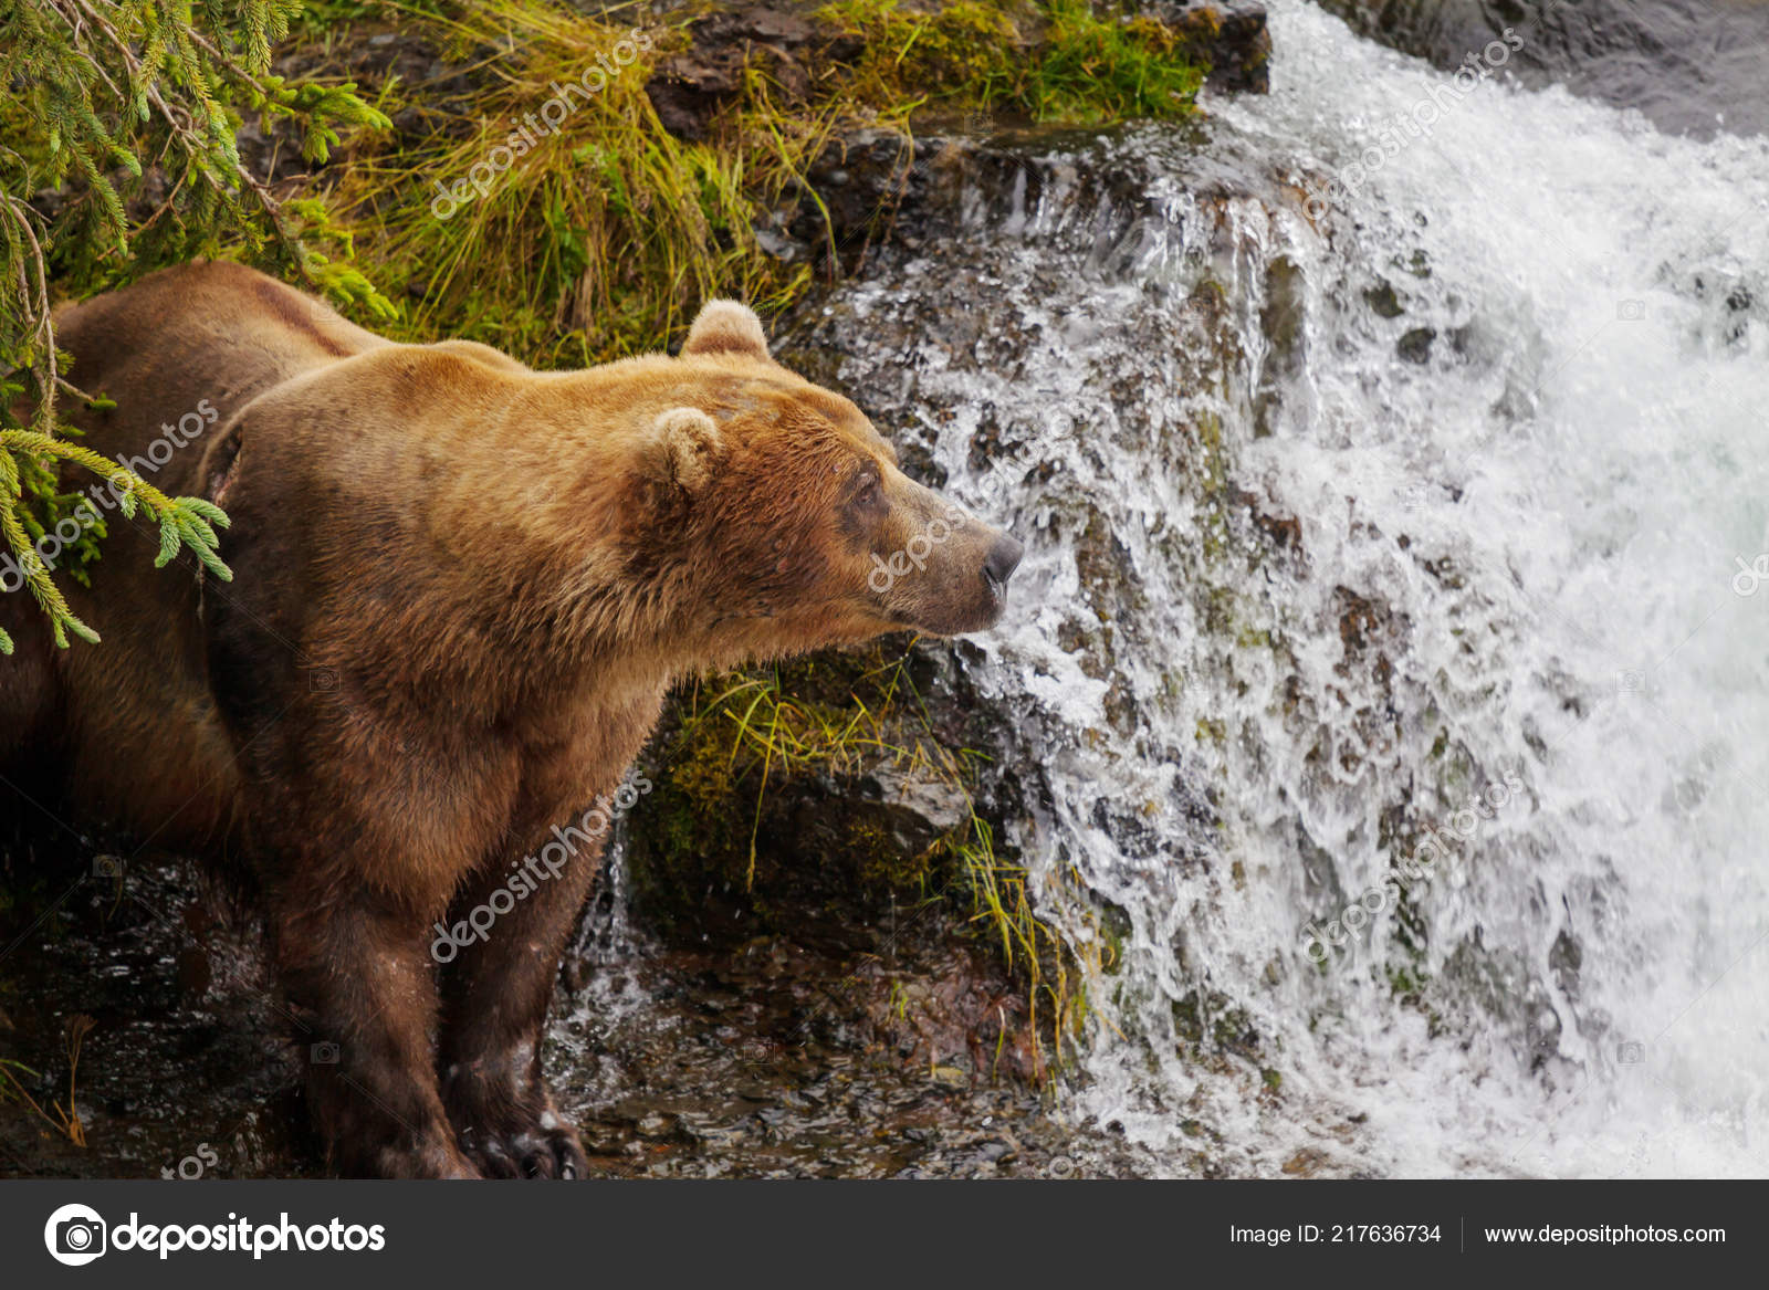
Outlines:
[[[992, 948], [1024, 989], [1026, 1046], [1035, 1078], [1045, 1081], [1072, 1060], [1091, 1016], [1086, 982], [1113, 970], [1113, 943], [1093, 934], [1074, 947], [1038, 915], [1031, 874], [1003, 853], [973, 796], [987, 757], [952, 749], [934, 731], [909, 662], [911, 655], [869, 651], [690, 688], [662, 750], [667, 770], [658, 809], [635, 821], [647, 837], [633, 878], [646, 888], [651, 913], [669, 917], [676, 906], [695, 911], [711, 885], [741, 888], [766, 920], [778, 892], [807, 883], [766, 865], [768, 856], [757, 851], [773, 796], [789, 786], [840, 786], [884, 770], [941, 786], [964, 809], [920, 855], [858, 833], [844, 835], [842, 848], [851, 853], [862, 895], [888, 888], [916, 910], [945, 906]], [[761, 872], [759, 862], [766, 865]], [[807, 890], [814, 890], [810, 881]], [[1065, 904], [1084, 908], [1083, 899]]]

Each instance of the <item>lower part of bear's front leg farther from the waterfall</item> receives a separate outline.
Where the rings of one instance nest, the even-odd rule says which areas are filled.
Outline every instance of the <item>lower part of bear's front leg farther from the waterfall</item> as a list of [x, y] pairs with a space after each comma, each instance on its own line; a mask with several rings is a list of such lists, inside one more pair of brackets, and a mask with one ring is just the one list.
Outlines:
[[474, 1179], [435, 1079], [421, 913], [364, 890], [272, 895], [276, 961], [302, 1028], [308, 1099], [345, 1177]]

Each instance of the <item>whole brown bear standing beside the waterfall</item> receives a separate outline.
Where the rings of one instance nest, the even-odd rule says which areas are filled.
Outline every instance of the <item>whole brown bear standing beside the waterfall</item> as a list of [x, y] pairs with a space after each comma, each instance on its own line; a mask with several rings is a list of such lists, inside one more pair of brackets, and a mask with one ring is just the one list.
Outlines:
[[249, 874], [336, 1170], [582, 1177], [541, 1032], [670, 683], [987, 628], [1019, 543], [729, 301], [679, 357], [531, 372], [216, 262], [58, 336], [117, 403], [85, 442], [221, 504], [235, 580], [110, 511], [67, 587], [101, 646], [0, 595], [0, 793]]

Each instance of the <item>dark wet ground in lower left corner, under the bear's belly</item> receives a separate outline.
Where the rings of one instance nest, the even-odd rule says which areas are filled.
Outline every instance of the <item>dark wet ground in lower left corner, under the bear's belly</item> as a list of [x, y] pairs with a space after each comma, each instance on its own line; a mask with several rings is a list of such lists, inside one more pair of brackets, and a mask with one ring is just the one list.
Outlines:
[[[14, 899], [0, 910], [0, 964], [11, 1028], [0, 1058], [42, 1076], [42, 1106], [69, 1083], [85, 1147], [28, 1108], [0, 1099], [7, 1177], [308, 1177], [324, 1171], [306, 1138], [299, 1063], [264, 970], [264, 947], [226, 899], [168, 860], [131, 860], [120, 879], [85, 881], [90, 855], [35, 862], [0, 844]], [[44, 881], [48, 879], [48, 881]], [[200, 957], [203, 970], [189, 964]], [[81, 1032], [80, 1062], [69, 1040]], [[264, 1108], [271, 1108], [265, 1115]], [[264, 1124], [260, 1124], [260, 1118]]]

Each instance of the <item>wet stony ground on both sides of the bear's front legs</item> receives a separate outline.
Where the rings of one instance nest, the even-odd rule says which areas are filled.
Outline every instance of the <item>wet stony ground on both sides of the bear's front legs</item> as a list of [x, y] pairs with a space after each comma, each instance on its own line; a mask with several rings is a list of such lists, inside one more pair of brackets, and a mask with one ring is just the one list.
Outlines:
[[[76, 1017], [92, 1028], [73, 1069], [87, 1145], [9, 1085], [0, 1177], [324, 1177], [299, 1092], [315, 1055], [267, 989], [258, 933], [177, 862], [120, 869], [14, 858], [25, 895], [0, 915], [0, 947], [16, 943], [0, 959], [0, 1060], [35, 1072], [9, 1067], [51, 1118], [69, 1102]], [[826, 938], [647, 945], [598, 917], [563, 973], [545, 1056], [598, 1175], [1137, 1168], [1113, 1134], [1061, 1124], [1038, 1088], [991, 1079], [992, 1055], [950, 1037], [938, 1003], [973, 968], [934, 920], [867, 959]]]

